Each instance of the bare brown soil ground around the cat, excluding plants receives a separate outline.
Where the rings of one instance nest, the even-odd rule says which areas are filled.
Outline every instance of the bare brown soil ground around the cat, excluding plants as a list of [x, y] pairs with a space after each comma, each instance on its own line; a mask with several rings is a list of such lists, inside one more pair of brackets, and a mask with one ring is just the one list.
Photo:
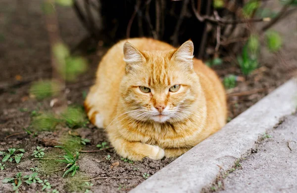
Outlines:
[[[31, 112], [51, 110], [49, 106], [52, 98], [38, 101], [31, 98], [29, 88], [31, 82], [50, 78], [50, 45], [45, 28], [45, 18], [41, 10], [40, 0], [0, 1], [0, 151], [8, 148], [24, 148], [26, 153], [19, 164], [6, 161], [6, 168], [0, 171], [0, 180], [12, 177], [18, 172], [31, 174], [30, 168], [40, 168], [40, 178], [48, 179], [52, 189], [60, 193], [85, 192], [127, 192], [145, 180], [144, 173], [153, 175], [174, 159], [164, 158], [154, 161], [145, 158], [143, 161], [129, 163], [114, 153], [113, 149], [102, 150], [97, 153], [80, 153], [79, 171], [74, 177], [62, 178], [63, 171], [50, 172], [63, 168], [50, 160], [31, 160], [36, 146], [46, 148], [45, 157], [64, 155], [61, 150], [53, 148], [58, 145], [59, 136], [76, 132], [82, 138], [91, 142], [83, 150], [99, 150], [97, 144], [107, 142], [103, 129], [88, 124], [87, 127], [69, 129], [61, 127], [53, 132], [39, 132], [37, 136], [28, 135], [23, 128], [27, 128], [32, 121]], [[70, 47], [75, 47], [87, 32], [79, 22], [75, 13], [68, 7], [57, 7], [60, 35]], [[296, 14], [275, 25], [274, 29], [283, 37], [283, 48], [277, 53], [261, 50], [260, 68], [245, 77], [245, 81], [227, 90], [229, 117], [234, 118], [253, 105], [266, 94], [296, 75], [297, 64], [297, 19]], [[295, 40], [293, 40], [295, 39]], [[108, 42], [103, 42], [96, 52], [89, 53], [86, 58], [89, 68], [77, 81], [67, 83], [67, 101], [71, 104], [83, 104], [83, 92], [87, 92], [95, 80], [95, 71], [102, 55], [106, 52]], [[228, 74], [240, 75], [240, 69], [234, 62], [225, 62], [214, 70], [220, 77]], [[107, 155], [111, 160], [107, 160]], [[64, 166], [65, 167], [65, 166]], [[5, 171], [6, 170], [6, 171]], [[88, 188], [84, 179], [97, 178]], [[20, 192], [35, 193], [41, 191], [40, 184], [23, 183]], [[0, 182], [0, 193], [12, 191], [11, 184]]]

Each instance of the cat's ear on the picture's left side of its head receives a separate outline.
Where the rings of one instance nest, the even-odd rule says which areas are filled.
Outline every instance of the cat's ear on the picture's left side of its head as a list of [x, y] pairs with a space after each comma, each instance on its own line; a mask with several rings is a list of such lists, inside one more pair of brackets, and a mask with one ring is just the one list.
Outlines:
[[146, 61], [143, 54], [129, 42], [124, 44], [124, 61], [126, 62], [126, 72], [137, 69], [141, 64]]

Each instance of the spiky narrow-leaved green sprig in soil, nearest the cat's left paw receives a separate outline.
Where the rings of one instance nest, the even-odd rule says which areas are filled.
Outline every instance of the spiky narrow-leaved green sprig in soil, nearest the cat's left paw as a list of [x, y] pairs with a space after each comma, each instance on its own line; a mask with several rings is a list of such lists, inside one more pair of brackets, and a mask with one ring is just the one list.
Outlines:
[[76, 164], [76, 161], [79, 157], [79, 153], [76, 152], [75, 154], [75, 157], [70, 153], [69, 150], [67, 150], [66, 148], [62, 147], [62, 146], [55, 146], [55, 148], [62, 148], [65, 152], [66, 152], [66, 155], [64, 156], [60, 156], [60, 157], [63, 157], [63, 159], [57, 159], [56, 161], [59, 162], [59, 163], [67, 163], [67, 166], [66, 168], [69, 168], [68, 170], [66, 170], [63, 174], [62, 177], [64, 177], [66, 174], [72, 172], [71, 176], [74, 176], [76, 171], [79, 169], [79, 166]]

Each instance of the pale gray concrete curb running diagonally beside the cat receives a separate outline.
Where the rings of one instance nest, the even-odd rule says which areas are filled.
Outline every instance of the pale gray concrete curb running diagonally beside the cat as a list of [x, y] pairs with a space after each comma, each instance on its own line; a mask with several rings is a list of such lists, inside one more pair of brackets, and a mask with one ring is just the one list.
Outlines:
[[[291, 79], [130, 193], [198, 193], [253, 147], [258, 136], [295, 112], [297, 81]], [[227, 155], [227, 156], [226, 156]], [[219, 165], [219, 166], [218, 166]]]

